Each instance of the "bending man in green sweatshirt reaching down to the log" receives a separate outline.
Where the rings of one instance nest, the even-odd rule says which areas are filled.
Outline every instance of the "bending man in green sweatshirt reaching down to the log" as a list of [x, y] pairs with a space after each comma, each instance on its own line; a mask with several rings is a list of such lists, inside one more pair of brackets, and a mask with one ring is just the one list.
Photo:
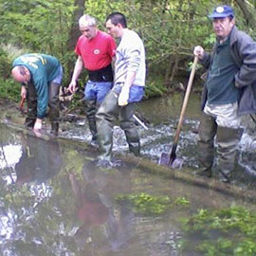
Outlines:
[[12, 66], [13, 79], [22, 83], [21, 97], [27, 98], [25, 125], [40, 134], [48, 105], [51, 135], [57, 136], [60, 117], [59, 89], [63, 78], [59, 60], [46, 54], [25, 54], [15, 59]]

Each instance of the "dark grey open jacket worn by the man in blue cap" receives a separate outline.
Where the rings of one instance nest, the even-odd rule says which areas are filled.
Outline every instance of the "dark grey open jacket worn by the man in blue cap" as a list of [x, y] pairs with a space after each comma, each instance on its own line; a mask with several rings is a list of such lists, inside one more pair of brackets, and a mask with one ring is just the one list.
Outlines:
[[[242, 90], [238, 102], [238, 115], [256, 113], [256, 43], [247, 33], [234, 26], [230, 32], [229, 44], [232, 57], [239, 67], [239, 71], [234, 77], [235, 84]], [[207, 69], [212, 63], [215, 48], [213, 46], [212, 53], [205, 53], [200, 61]], [[201, 101], [202, 110], [206, 101], [207, 86], [205, 84]]]

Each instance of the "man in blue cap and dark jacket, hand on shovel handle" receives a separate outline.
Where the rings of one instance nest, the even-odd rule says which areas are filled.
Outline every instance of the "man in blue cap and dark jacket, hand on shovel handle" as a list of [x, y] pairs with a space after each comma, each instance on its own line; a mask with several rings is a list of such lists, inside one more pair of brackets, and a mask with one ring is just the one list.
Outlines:
[[224, 182], [230, 181], [236, 148], [243, 134], [241, 115], [256, 112], [256, 44], [235, 27], [234, 11], [219, 6], [210, 14], [216, 43], [212, 53], [195, 46], [193, 54], [208, 69], [202, 97], [199, 126], [198, 174], [211, 176], [213, 139], [217, 142], [217, 170]]

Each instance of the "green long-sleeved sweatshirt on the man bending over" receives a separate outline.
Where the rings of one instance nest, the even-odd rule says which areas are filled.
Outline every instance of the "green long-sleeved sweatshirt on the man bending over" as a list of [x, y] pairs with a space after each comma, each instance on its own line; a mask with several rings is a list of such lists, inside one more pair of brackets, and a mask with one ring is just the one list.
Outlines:
[[46, 116], [48, 104], [48, 82], [53, 81], [60, 72], [60, 62], [50, 55], [30, 53], [14, 60], [12, 66], [25, 65], [30, 72], [31, 80], [37, 93], [37, 117]]

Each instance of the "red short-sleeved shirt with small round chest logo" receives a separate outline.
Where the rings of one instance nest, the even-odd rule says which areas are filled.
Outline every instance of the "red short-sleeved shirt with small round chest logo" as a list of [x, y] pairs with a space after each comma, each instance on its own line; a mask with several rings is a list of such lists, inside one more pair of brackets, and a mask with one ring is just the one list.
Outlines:
[[84, 67], [93, 71], [111, 64], [116, 48], [115, 40], [99, 30], [91, 40], [82, 35], [77, 42], [75, 52], [82, 56]]

